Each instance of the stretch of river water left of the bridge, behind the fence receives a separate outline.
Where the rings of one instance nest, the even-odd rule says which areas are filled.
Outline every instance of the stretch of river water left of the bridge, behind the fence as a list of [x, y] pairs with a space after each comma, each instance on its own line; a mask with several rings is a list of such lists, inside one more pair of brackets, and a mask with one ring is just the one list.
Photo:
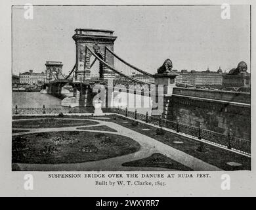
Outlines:
[[37, 107], [60, 107], [61, 100], [49, 94], [40, 92], [12, 92], [12, 107], [37, 108]]

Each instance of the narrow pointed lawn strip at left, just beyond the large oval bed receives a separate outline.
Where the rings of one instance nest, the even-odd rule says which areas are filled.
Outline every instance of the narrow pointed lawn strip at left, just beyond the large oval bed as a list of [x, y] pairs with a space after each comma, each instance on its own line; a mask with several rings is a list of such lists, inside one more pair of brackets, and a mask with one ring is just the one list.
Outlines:
[[[41, 118], [41, 117], [37, 117]], [[79, 125], [96, 125], [98, 124], [95, 121], [81, 121], [75, 119], [61, 119], [61, 118], [53, 118], [46, 117], [43, 119], [34, 119], [34, 120], [22, 120], [22, 121], [13, 121], [13, 128], [47, 128], [47, 127], [72, 127]]]

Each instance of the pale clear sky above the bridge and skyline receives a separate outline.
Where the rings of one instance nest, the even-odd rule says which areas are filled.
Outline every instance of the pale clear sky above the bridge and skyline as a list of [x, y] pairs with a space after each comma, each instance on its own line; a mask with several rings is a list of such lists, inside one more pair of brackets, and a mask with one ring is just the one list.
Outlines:
[[12, 8], [12, 73], [45, 71], [45, 61], [75, 64], [75, 28], [114, 30], [114, 52], [154, 74], [170, 58], [175, 70], [226, 71], [250, 61], [248, 5], [221, 6], [34, 6], [26, 20]]

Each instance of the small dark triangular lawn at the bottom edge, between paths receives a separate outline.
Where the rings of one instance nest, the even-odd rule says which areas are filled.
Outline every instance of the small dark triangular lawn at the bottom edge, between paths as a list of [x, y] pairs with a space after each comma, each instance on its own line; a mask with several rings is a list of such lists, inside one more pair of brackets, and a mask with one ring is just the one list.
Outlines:
[[185, 165], [159, 153], [154, 153], [148, 158], [123, 163], [122, 165], [130, 167], [161, 167], [176, 171], [193, 171], [190, 167], [186, 167]]

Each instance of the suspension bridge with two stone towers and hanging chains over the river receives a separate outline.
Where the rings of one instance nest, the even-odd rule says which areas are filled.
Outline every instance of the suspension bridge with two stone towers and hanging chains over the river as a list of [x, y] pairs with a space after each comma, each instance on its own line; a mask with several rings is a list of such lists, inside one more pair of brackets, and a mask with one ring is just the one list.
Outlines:
[[[100, 91], [104, 89], [104, 106], [108, 106], [110, 89], [150, 96], [150, 87], [154, 84], [153, 75], [129, 64], [114, 53], [114, 41], [117, 37], [113, 32], [76, 29], [72, 37], [76, 49], [74, 67], [65, 76], [58, 66], [50, 66], [45, 83], [47, 93], [62, 97], [62, 87], [71, 85], [79, 106], [93, 106], [92, 100], [97, 94], [93, 91], [95, 87]], [[92, 73], [95, 66], [96, 75]]]

